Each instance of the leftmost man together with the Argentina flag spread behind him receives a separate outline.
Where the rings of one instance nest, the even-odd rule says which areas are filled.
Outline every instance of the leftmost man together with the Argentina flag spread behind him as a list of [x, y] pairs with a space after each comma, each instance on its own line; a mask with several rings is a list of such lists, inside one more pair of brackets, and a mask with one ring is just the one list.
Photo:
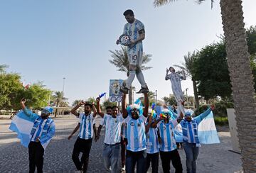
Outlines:
[[26, 99], [21, 100], [21, 108], [11, 122], [10, 130], [18, 133], [21, 145], [28, 147], [29, 172], [43, 172], [43, 154], [46, 146], [55, 134], [55, 123], [49, 117], [53, 108], [43, 108], [41, 116], [33, 113], [25, 106]]

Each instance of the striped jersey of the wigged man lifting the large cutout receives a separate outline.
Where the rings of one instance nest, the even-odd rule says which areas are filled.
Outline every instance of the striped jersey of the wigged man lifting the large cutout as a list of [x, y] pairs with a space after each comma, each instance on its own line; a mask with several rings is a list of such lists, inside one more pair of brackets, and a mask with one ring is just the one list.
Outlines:
[[124, 119], [124, 123], [127, 123], [127, 150], [132, 152], [146, 150], [145, 120], [144, 116], [140, 116], [137, 120], [131, 116]]

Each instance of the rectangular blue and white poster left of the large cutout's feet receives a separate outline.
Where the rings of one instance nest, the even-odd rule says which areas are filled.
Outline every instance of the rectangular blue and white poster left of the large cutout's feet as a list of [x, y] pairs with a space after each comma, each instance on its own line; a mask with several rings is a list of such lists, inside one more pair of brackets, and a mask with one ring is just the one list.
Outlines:
[[110, 102], [122, 101], [122, 92], [119, 90], [123, 82], [122, 79], [110, 79]]

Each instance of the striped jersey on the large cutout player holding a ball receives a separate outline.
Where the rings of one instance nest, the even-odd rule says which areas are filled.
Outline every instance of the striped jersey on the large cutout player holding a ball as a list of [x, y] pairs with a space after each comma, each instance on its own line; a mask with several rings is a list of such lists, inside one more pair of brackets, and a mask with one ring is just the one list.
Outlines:
[[[144, 29], [144, 24], [141, 21], [135, 19], [133, 23], [126, 23], [124, 25], [123, 34], [129, 35], [132, 41], [137, 40], [139, 38], [139, 30], [143, 30], [143, 29]], [[142, 41], [139, 41], [136, 45], [132, 47], [128, 47], [129, 53], [134, 53], [139, 51], [143, 52]]]

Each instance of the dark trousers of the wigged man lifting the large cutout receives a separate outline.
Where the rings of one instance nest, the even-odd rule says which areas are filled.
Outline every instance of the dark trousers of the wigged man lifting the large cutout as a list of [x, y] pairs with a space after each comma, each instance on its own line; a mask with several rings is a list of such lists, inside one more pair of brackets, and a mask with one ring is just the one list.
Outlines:
[[137, 173], [143, 173], [146, 169], [146, 150], [132, 152], [127, 150], [125, 160], [125, 172], [134, 173], [135, 164], [137, 164]]

